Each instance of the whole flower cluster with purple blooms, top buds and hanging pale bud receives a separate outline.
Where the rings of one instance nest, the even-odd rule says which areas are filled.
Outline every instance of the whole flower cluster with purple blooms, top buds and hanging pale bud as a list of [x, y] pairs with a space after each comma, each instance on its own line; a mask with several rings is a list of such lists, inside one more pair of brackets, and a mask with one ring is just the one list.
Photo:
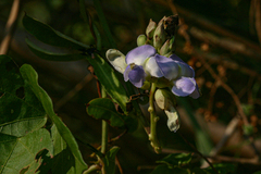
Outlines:
[[[153, 95], [150, 97], [164, 110], [167, 126], [172, 132], [179, 128], [175, 96], [190, 96], [195, 99], [200, 96], [192, 67], [174, 53], [177, 24], [176, 15], [163, 17], [158, 25], [150, 20], [146, 35], [137, 38], [138, 47], [130, 50], [126, 57], [115, 49], [107, 51], [108, 61], [123, 74], [125, 82], [129, 80], [137, 88], [151, 87], [153, 91], [150, 94]], [[153, 103], [150, 103], [150, 107], [153, 107]], [[156, 122], [156, 119], [151, 119], [151, 124]], [[156, 130], [151, 130], [151, 135], [154, 134]], [[156, 140], [152, 141], [152, 147], [159, 148]]]

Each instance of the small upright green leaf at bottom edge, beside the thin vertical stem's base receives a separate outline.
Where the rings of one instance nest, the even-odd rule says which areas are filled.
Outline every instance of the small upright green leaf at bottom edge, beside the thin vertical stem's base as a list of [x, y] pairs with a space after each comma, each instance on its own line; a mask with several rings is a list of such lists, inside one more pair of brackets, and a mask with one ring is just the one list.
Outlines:
[[105, 173], [114, 174], [115, 173], [115, 157], [117, 151], [120, 150], [119, 147], [112, 147], [105, 154], [103, 159]]

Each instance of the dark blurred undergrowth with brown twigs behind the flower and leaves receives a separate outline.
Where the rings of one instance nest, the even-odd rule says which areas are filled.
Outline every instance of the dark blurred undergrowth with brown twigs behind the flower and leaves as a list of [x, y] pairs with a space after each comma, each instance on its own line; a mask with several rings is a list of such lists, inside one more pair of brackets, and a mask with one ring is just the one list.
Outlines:
[[[235, 167], [234, 173], [260, 171], [261, 1], [100, 2], [115, 45], [123, 53], [136, 47], [136, 38], [145, 33], [150, 18], [159, 22], [163, 16], [178, 14], [176, 54], [195, 69], [202, 92], [197, 100], [178, 98], [177, 109], [182, 119], [178, 134], [167, 129], [166, 119], [159, 110], [162, 115], [158, 128], [163, 146], [161, 154], [153, 152], [141, 126], [111, 142], [110, 146], [121, 147], [116, 158], [117, 172], [150, 173], [158, 165], [156, 161], [169, 153], [195, 152], [189, 142], [211, 162], [232, 164], [229, 167]], [[101, 54], [104, 55], [111, 48], [108, 29], [101, 26], [92, 0], [86, 0], [85, 4], [91, 23], [101, 34]], [[52, 99], [57, 115], [77, 139], [98, 148], [101, 121], [86, 113], [86, 104], [98, 98], [96, 78], [87, 69], [89, 63], [84, 60], [53, 62], [36, 57], [25, 42], [26, 38], [34, 39], [22, 24], [26, 13], [64, 35], [95, 47], [96, 40], [89, 23], [79, 13], [78, 1], [21, 1], [16, 23], [9, 28], [7, 24], [12, 5], [13, 1], [0, 1], [0, 40], [12, 37], [8, 45], [2, 41], [0, 53], [12, 57], [20, 66], [24, 63], [33, 65], [39, 75], [39, 85]], [[53, 48], [36, 39], [34, 42], [53, 51]], [[147, 105], [141, 108], [148, 116]], [[109, 128], [110, 138], [122, 133], [122, 129]], [[83, 141], [77, 142], [84, 160], [91, 165], [92, 151]], [[194, 162], [199, 165], [200, 160]], [[204, 162], [202, 165], [207, 166]]]

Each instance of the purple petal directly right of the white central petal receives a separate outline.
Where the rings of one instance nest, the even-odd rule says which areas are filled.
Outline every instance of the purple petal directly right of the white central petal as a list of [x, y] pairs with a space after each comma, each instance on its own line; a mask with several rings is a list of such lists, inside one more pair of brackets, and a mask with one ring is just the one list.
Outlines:
[[156, 54], [156, 62], [165, 78], [167, 78], [169, 80], [172, 80], [177, 77], [178, 65], [175, 61], [173, 61], [170, 58]]

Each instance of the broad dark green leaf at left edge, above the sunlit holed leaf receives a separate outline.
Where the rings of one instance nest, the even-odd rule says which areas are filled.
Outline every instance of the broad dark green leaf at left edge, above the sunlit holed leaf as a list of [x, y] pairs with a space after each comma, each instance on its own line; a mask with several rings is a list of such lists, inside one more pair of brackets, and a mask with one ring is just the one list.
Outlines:
[[0, 133], [22, 137], [46, 124], [47, 115], [8, 55], [0, 55]]

